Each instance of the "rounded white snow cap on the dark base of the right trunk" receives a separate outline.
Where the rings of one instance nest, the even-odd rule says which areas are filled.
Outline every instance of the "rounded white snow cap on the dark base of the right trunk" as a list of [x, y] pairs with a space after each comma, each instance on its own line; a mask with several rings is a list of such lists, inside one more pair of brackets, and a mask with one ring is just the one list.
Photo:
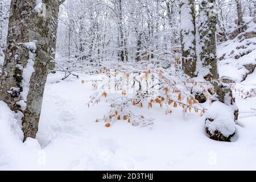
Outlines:
[[[214, 131], [219, 131], [224, 137], [229, 137], [236, 131], [233, 110], [222, 102], [213, 102], [205, 118], [207, 119], [206, 127], [211, 134], [214, 134]], [[213, 121], [209, 119], [213, 119]]]

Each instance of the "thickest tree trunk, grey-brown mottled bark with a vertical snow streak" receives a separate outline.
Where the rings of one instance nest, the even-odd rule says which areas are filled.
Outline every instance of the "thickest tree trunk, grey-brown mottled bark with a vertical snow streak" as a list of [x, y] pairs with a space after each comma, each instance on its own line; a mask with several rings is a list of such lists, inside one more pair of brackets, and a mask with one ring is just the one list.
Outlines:
[[20, 113], [24, 140], [35, 138], [47, 69], [56, 47], [57, 19], [63, 1], [12, 0], [0, 100]]

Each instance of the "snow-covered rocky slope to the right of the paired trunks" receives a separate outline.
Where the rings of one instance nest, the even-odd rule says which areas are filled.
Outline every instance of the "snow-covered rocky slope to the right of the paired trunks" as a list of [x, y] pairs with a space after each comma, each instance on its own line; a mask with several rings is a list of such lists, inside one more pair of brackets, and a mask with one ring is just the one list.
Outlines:
[[227, 40], [217, 47], [218, 71], [220, 77], [229, 77], [236, 81], [242, 81], [246, 74], [246, 64], [256, 64], [256, 37], [246, 39], [245, 34], [256, 32], [256, 23], [252, 17], [244, 17], [245, 22], [250, 22], [247, 30], [233, 40]]

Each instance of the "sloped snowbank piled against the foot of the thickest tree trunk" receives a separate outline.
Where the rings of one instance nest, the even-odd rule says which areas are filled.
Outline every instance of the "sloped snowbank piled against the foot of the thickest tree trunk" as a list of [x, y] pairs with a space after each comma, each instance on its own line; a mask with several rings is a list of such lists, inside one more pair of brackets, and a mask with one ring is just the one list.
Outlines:
[[0, 170], [35, 169], [40, 144], [31, 138], [22, 141], [19, 114], [0, 101]]

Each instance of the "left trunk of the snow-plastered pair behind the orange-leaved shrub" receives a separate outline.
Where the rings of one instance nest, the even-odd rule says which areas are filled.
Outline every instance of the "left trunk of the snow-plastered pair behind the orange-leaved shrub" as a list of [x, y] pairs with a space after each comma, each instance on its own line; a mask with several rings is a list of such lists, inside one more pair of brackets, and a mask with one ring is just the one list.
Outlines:
[[196, 71], [196, 20], [194, 0], [182, 0], [180, 3], [181, 53], [185, 74], [195, 77]]

